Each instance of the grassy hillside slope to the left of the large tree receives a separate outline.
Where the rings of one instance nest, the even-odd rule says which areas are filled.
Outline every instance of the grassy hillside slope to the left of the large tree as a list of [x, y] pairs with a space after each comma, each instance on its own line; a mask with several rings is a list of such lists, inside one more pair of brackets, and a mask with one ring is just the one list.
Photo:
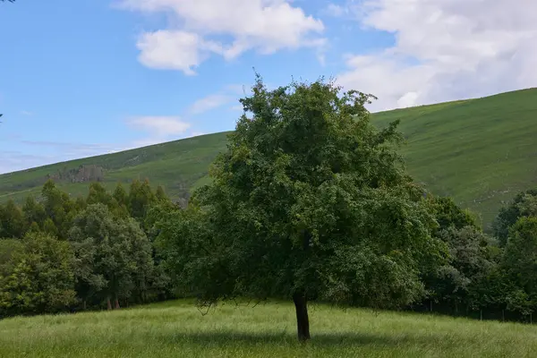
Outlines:
[[[0, 175], [0, 201], [10, 198], [21, 201], [29, 194], [38, 196], [47, 175], [77, 171], [82, 166], [92, 165], [102, 167], [102, 182], [109, 188], [117, 182], [131, 183], [134, 178], [149, 178], [152, 184], [165, 186], [169, 195], [178, 198], [200, 179], [203, 180], [209, 164], [225, 148], [226, 133], [216, 133]], [[72, 195], [85, 195], [88, 183], [76, 179], [70, 177], [55, 181]], [[90, 180], [95, 180], [95, 177]]]

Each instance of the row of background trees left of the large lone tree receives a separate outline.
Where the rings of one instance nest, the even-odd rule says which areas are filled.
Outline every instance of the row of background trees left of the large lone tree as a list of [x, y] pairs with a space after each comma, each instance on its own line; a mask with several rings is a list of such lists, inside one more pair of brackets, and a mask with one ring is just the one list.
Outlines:
[[49, 180], [40, 196], [0, 206], [0, 317], [174, 296], [150, 232], [149, 210], [175, 207], [162, 187], [91, 183], [72, 199]]

